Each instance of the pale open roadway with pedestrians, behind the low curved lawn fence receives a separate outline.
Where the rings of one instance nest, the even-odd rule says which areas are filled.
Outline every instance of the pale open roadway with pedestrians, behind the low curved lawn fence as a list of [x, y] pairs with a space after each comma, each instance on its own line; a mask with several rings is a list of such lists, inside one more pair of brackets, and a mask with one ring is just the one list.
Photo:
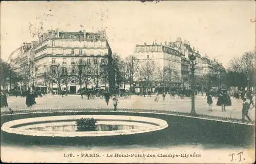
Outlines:
[[[189, 112], [191, 109], [191, 99], [173, 99], [166, 96], [163, 101], [161, 95], [159, 102], [155, 102], [155, 95], [152, 97], [132, 96], [131, 98], [120, 98], [118, 108], [139, 108], [139, 109], [153, 109], [153, 110], [171, 110]], [[28, 108], [25, 105], [26, 98], [24, 97], [9, 97], [7, 99], [9, 107], [1, 108], [2, 111], [12, 110], [26, 110], [26, 109], [69, 109], [69, 108], [113, 108], [112, 100], [107, 106], [103, 99], [95, 98], [87, 100], [81, 99], [79, 95], [68, 95], [61, 97], [58, 95], [47, 95], [36, 98], [37, 104]], [[202, 96], [197, 96], [195, 99], [196, 112], [200, 114], [210, 114], [217, 116], [225, 116], [228, 118], [242, 118], [242, 100], [231, 99], [232, 106], [226, 107], [226, 111], [222, 112], [221, 107], [217, 106], [217, 100], [213, 98], [213, 111], [208, 111], [206, 99]], [[255, 102], [255, 101], [254, 101]], [[255, 120], [255, 108], [249, 110], [249, 115]]]

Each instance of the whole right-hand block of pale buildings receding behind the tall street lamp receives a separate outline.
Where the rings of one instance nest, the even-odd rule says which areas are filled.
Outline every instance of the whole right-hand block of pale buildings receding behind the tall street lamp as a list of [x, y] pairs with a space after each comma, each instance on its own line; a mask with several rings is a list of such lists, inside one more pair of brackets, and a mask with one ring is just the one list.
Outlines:
[[[195, 48], [191, 48], [189, 41], [178, 37], [176, 41], [156, 43], [147, 45], [137, 44], [135, 46], [135, 51], [133, 54], [140, 61], [140, 66], [143, 66], [144, 60], [152, 60], [156, 63], [159, 69], [163, 67], [170, 66], [177, 72], [176, 80], [173, 80], [172, 84], [162, 84], [159, 81], [159, 74], [155, 73], [155, 80], [151, 82], [150, 88], [163, 87], [166, 86], [167, 90], [172, 89], [190, 89], [190, 61], [188, 56], [195, 55], [196, 56], [196, 66], [195, 66], [195, 77], [200, 82], [200, 79], [203, 79], [206, 75], [212, 74], [221, 74], [220, 72], [225, 72], [225, 68], [221, 63], [217, 63], [216, 61], [212, 61], [207, 57], [202, 57], [199, 50], [195, 50]], [[139, 69], [141, 70], [141, 68]], [[219, 70], [219, 71], [217, 71]], [[220, 71], [221, 70], [221, 71]], [[138, 74], [139, 75], [139, 74]], [[221, 75], [219, 75], [221, 77]], [[158, 79], [157, 79], [158, 78]], [[136, 79], [136, 91], [141, 92], [143, 89], [143, 79], [137, 77]], [[203, 90], [203, 84], [199, 87], [200, 90]]]

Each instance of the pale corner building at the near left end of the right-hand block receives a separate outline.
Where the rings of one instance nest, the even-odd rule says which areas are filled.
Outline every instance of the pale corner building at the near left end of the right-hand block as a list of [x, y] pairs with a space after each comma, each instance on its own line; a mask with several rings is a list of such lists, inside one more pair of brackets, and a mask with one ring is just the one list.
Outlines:
[[[166, 88], [181, 87], [181, 54], [179, 53], [178, 49], [171, 48], [166, 43], [164, 45], [162, 45], [162, 43], [153, 43], [150, 45], [144, 43], [144, 45], [137, 44], [135, 46], [135, 52], [133, 55], [139, 59], [139, 70], [143, 69], [143, 64], [146, 60], [153, 61], [156, 67], [155, 74], [151, 75], [153, 80], [150, 82], [150, 84], [146, 84], [146, 87], [143, 86], [144, 82], [140, 77], [135, 77], [136, 92], [141, 92], [142, 89], [145, 91], [147, 91], [147, 89], [155, 91], [155, 88], [162, 87], [164, 84], [162, 84], [159, 76], [164, 67], [170, 67], [174, 72], [176, 72], [177, 75], [172, 83], [166, 85]], [[139, 73], [139, 76], [140, 74], [141, 73]]]

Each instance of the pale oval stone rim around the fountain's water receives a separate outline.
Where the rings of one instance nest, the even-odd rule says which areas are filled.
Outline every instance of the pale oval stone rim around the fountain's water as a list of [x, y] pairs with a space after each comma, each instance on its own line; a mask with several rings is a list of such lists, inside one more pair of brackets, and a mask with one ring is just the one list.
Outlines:
[[[12, 128], [13, 126], [28, 124], [28, 123], [36, 123], [36, 122], [44, 122], [44, 121], [66, 121], [66, 120], [78, 120], [80, 118], [94, 118], [96, 120], [104, 119], [113, 121], [113, 120], [123, 120], [123, 121], [134, 121], [140, 122], [143, 121], [148, 124], [157, 124], [158, 126], [150, 126], [150, 127], [142, 127], [138, 129], [130, 129], [130, 130], [114, 130], [114, 131], [85, 131], [85, 132], [62, 132], [62, 131], [39, 131], [39, 130], [27, 130], [27, 129], [19, 129]], [[27, 118], [27, 119], [19, 119], [9, 121], [3, 124], [1, 129], [7, 133], [21, 134], [21, 135], [29, 135], [29, 136], [48, 136], [48, 137], [91, 137], [91, 136], [113, 136], [113, 135], [129, 135], [129, 134], [138, 134], [138, 133], [146, 133], [157, 130], [162, 130], [168, 127], [166, 121], [156, 118], [150, 118], [145, 116], [131, 116], [131, 115], [98, 115], [98, 114], [82, 114], [82, 115], [58, 115], [58, 116], [42, 116], [36, 118]]]

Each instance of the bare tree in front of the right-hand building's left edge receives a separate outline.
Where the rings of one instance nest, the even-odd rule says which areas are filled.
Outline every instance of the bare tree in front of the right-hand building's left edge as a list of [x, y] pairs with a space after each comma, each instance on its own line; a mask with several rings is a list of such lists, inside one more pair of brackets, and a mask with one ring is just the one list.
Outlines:
[[130, 55], [125, 58], [125, 64], [127, 68], [127, 80], [129, 81], [131, 91], [134, 76], [139, 69], [139, 60], [135, 56]]

